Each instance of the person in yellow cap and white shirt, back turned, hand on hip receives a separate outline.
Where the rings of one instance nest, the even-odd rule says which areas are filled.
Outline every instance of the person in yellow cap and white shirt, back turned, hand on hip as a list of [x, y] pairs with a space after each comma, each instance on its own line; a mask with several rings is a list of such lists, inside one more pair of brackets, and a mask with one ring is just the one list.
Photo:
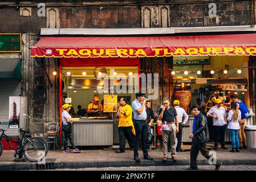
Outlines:
[[[178, 133], [177, 133], [177, 152], [181, 152], [181, 139], [182, 139], [182, 125], [185, 125], [186, 122], [189, 119], [188, 114], [186, 114], [186, 111], [180, 107], [180, 101], [174, 100], [173, 101], [173, 106], [176, 109], [176, 112], [178, 114]], [[184, 121], [182, 122], [182, 118], [184, 117]]]

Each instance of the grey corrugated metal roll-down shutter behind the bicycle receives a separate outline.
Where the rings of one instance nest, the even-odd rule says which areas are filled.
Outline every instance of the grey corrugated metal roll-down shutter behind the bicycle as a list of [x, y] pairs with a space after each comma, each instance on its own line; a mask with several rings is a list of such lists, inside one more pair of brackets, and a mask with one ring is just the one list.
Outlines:
[[[1, 128], [8, 127], [9, 123], [9, 97], [21, 95], [21, 83], [15, 79], [0, 78], [0, 121], [5, 122], [5, 125], [0, 125]], [[8, 129], [5, 132], [10, 136], [18, 136], [18, 129]]]

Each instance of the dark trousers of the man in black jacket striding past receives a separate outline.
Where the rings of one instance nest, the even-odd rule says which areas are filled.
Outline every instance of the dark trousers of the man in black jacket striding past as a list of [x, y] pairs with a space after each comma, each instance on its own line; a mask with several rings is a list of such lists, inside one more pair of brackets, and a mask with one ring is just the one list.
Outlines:
[[[207, 145], [205, 143], [198, 143], [195, 139], [192, 140], [192, 146], [190, 150], [190, 167], [197, 168], [197, 156], [199, 151], [206, 158], [210, 159], [209, 151], [207, 150]], [[216, 164], [221, 164], [220, 161], [216, 160]]]

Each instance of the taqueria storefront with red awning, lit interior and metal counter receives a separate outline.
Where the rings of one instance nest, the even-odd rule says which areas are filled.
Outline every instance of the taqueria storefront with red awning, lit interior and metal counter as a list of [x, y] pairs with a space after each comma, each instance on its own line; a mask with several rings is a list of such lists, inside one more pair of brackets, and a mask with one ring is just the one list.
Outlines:
[[[31, 47], [31, 56], [59, 61], [53, 74], [59, 78], [60, 135], [62, 105], [67, 102], [72, 104], [75, 111], [79, 105], [86, 109], [96, 94], [103, 110], [94, 116], [74, 115], [74, 142], [77, 146], [112, 146], [119, 143], [118, 119], [115, 117], [118, 101], [121, 97], [125, 97], [128, 104], [135, 100], [135, 92], [141, 89], [142, 84], [138, 75], [143, 60], [149, 57], [172, 57], [169, 69], [172, 81], [169, 82], [173, 87], [173, 96], [170, 96], [170, 100], [180, 100], [181, 106], [189, 114], [190, 106], [198, 104], [197, 98], [200, 98], [206, 112], [214, 105], [212, 97], [222, 97], [225, 103], [229, 102], [226, 96], [230, 93], [237, 93], [248, 107], [254, 106], [247, 79], [249, 57], [256, 55], [254, 37], [256, 34], [42, 36]], [[119, 74], [127, 80], [133, 77], [139, 86], [136, 87], [134, 83], [131, 86], [127, 80], [121, 82]], [[106, 77], [107, 82], [104, 81]], [[120, 88], [120, 83], [127, 86], [124, 90], [132, 88], [132, 92], [117, 92], [115, 88]], [[162, 97], [156, 99], [161, 100]], [[251, 114], [253, 116], [253, 111]], [[249, 125], [253, 125], [252, 118]], [[190, 124], [187, 124], [188, 132], [192, 130]], [[186, 142], [185, 138], [183, 142]]]

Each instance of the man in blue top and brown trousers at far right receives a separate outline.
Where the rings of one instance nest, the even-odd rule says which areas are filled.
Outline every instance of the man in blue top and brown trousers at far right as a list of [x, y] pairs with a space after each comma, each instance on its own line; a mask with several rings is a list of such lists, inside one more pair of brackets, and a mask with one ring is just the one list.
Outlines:
[[247, 109], [247, 106], [243, 104], [241, 100], [238, 99], [236, 94], [231, 94], [230, 98], [233, 102], [236, 102], [239, 105], [239, 110], [241, 111], [241, 121], [239, 122], [240, 129], [238, 133], [238, 138], [240, 143], [239, 149], [240, 150], [247, 149], [247, 142], [246, 142], [246, 135], [245, 135], [245, 122], [246, 122], [245, 114], [249, 113], [249, 110]]

